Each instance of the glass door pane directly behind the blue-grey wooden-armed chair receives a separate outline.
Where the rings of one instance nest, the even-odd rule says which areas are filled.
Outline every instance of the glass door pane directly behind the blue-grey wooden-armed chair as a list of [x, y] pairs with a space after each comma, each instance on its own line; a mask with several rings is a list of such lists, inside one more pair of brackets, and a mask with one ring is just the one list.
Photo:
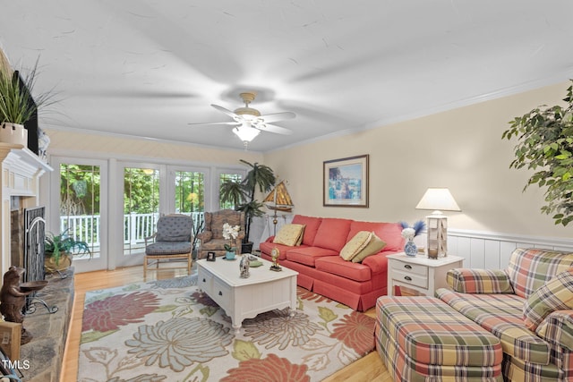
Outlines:
[[145, 250], [159, 216], [159, 171], [124, 169], [124, 255]]

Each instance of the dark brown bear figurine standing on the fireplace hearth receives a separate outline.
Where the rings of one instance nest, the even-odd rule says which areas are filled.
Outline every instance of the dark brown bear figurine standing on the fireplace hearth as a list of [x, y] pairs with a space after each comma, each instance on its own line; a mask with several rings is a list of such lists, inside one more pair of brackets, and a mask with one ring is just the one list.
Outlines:
[[[4, 273], [4, 284], [0, 290], [0, 313], [4, 320], [21, 324], [24, 315], [21, 310], [26, 303], [26, 296], [32, 291], [23, 291], [20, 287], [21, 276], [26, 269], [21, 267], [9, 267]], [[28, 344], [32, 336], [21, 327], [21, 344]]]

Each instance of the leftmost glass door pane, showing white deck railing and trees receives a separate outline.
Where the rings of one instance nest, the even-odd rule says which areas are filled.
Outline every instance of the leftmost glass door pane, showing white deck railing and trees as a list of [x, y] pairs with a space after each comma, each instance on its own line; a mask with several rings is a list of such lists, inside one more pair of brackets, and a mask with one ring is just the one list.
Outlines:
[[[61, 164], [60, 185], [60, 232], [88, 243], [93, 258], [99, 258], [99, 166]], [[74, 256], [76, 259], [81, 256]]]

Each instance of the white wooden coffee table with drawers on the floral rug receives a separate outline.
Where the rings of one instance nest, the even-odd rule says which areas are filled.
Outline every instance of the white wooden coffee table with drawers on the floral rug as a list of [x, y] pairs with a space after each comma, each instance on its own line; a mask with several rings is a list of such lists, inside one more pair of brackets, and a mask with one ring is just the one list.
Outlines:
[[[239, 263], [235, 260], [217, 258], [197, 260], [198, 285], [231, 318], [235, 333], [238, 333], [244, 318], [274, 310], [296, 308], [296, 276], [298, 272], [282, 267], [282, 271], [269, 269], [272, 264], [259, 259], [261, 267], [251, 267], [248, 278], [240, 277]], [[294, 314], [294, 311], [291, 313]]]

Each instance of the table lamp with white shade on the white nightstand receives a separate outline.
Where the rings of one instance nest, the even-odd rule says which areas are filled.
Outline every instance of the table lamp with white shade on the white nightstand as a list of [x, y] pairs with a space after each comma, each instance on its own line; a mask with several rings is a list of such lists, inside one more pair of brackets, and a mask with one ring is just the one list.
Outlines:
[[428, 258], [438, 259], [448, 255], [448, 217], [441, 211], [461, 211], [447, 188], [429, 188], [415, 206], [416, 209], [432, 209], [426, 216]]

